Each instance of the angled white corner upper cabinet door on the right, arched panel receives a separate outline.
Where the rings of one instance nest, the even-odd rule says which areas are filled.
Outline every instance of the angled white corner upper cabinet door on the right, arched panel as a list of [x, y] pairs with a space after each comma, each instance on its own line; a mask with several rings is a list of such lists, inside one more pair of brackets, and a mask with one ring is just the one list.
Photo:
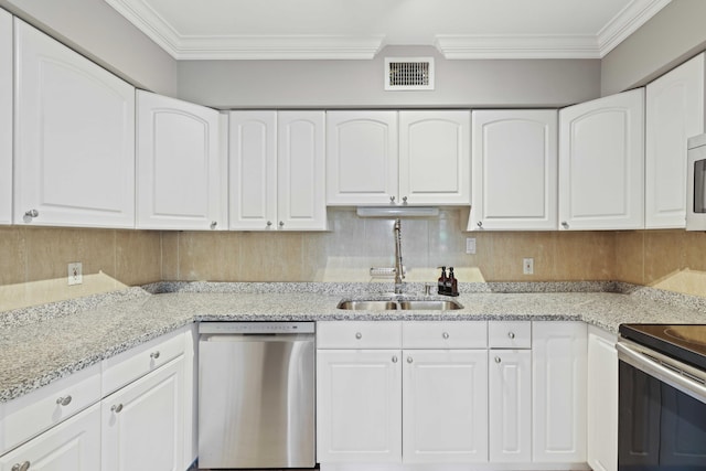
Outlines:
[[644, 90], [559, 111], [559, 228], [644, 226]]

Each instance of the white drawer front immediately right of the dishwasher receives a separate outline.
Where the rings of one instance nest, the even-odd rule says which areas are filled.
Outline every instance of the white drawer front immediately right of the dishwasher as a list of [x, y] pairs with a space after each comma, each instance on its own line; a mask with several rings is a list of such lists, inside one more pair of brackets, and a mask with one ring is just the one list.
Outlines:
[[317, 349], [399, 349], [402, 322], [317, 322]]

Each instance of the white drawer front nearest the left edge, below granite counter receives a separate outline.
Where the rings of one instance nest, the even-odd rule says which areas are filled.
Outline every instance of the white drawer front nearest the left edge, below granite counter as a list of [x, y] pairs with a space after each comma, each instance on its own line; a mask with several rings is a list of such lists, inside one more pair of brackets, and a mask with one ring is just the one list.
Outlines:
[[0, 407], [0, 454], [100, 400], [94, 365]]

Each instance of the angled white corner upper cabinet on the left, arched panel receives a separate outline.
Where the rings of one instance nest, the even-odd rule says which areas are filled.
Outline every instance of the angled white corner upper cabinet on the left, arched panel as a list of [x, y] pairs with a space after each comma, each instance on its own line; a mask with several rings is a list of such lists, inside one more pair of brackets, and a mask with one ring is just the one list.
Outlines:
[[227, 116], [137, 94], [137, 227], [227, 229]]

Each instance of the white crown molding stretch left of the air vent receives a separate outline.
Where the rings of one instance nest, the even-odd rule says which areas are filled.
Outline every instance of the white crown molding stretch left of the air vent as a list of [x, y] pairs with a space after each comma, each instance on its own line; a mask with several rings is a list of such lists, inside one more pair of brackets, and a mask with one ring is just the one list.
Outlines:
[[384, 35], [180, 35], [142, 0], [105, 0], [178, 61], [182, 60], [368, 60]]

